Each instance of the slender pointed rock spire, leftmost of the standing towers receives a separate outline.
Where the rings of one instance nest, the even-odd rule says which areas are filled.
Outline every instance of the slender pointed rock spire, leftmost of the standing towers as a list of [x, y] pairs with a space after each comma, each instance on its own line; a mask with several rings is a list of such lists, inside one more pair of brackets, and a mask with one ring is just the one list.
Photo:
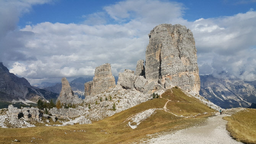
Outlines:
[[74, 95], [74, 92], [72, 91], [66, 78], [62, 78], [62, 91], [60, 92], [57, 101], [58, 100], [60, 100], [60, 102], [63, 104], [79, 104], [82, 102], [77, 95]]

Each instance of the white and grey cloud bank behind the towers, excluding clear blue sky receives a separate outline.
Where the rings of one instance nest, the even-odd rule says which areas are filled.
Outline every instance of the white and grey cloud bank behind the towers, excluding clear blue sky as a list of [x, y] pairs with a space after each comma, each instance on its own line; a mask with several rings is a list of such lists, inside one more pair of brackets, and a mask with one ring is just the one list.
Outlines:
[[[53, 82], [63, 76], [93, 76], [95, 67], [104, 63], [111, 64], [115, 76], [125, 69], [134, 70], [136, 61], [145, 59], [147, 34], [162, 23], [180, 23], [191, 29], [200, 74], [256, 80], [256, 11], [253, 10], [190, 22], [182, 18], [185, 15], [182, 3], [125, 0], [105, 6], [100, 12], [81, 15], [84, 21], [79, 24], [45, 22], [17, 29], [22, 13], [34, 4], [49, 1], [19, 2], [26, 6], [10, 14], [10, 21], [0, 24], [0, 61], [10, 72], [32, 84]], [[1, 10], [0, 18], [7, 17], [7, 7]]]

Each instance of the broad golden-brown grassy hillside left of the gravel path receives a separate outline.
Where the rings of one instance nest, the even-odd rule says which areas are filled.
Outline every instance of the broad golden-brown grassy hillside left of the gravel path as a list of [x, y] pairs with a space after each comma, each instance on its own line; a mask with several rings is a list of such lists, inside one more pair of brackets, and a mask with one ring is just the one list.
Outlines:
[[[162, 108], [168, 100], [167, 109], [176, 115], [198, 115], [196, 118], [184, 118], [165, 112]], [[169, 104], [170, 103], [170, 104]], [[161, 108], [135, 129], [127, 126], [133, 115], [151, 108]], [[127, 144], [149, 138], [148, 134], [165, 131], [176, 131], [202, 123], [215, 112], [213, 109], [188, 97], [180, 89], [172, 88], [162, 94], [162, 98], [149, 100], [125, 111], [119, 112], [104, 120], [87, 125], [73, 125], [60, 127], [38, 126], [33, 128], [0, 128], [0, 141], [13, 143], [40, 143], [40, 144]], [[154, 136], [154, 135], [151, 135]], [[42, 140], [41, 140], [42, 139]]]

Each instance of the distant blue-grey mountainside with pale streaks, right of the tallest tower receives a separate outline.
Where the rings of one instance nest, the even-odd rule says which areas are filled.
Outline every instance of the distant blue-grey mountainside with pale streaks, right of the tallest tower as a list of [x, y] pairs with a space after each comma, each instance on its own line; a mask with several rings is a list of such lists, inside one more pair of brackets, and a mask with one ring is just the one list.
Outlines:
[[200, 76], [200, 95], [222, 108], [249, 107], [256, 103], [256, 81]]

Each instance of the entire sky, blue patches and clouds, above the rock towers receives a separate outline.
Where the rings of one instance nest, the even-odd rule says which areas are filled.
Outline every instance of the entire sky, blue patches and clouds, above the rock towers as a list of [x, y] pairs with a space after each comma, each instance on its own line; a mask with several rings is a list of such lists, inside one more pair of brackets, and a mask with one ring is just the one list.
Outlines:
[[256, 80], [256, 0], [0, 0], [0, 61], [32, 84], [135, 70], [162, 23], [193, 32], [199, 74]]

